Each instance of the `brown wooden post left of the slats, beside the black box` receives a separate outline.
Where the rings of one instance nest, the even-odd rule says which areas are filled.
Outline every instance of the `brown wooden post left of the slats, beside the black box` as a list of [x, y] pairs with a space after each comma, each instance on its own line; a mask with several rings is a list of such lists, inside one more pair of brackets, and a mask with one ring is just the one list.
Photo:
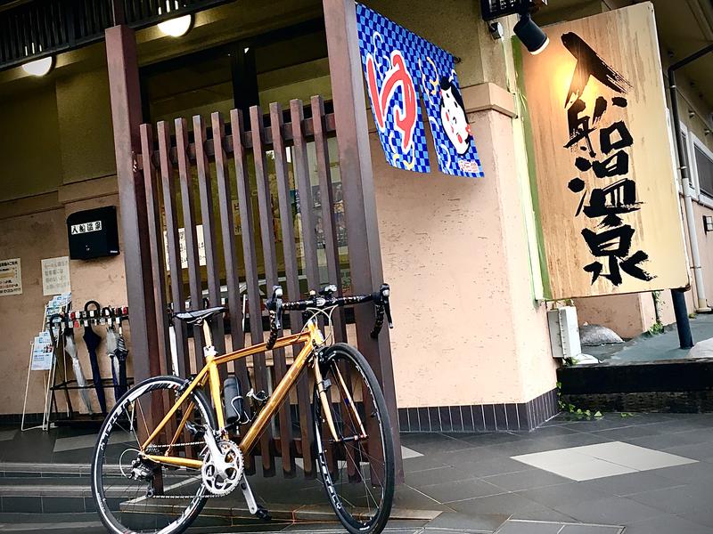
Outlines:
[[134, 376], [138, 382], [160, 375], [146, 192], [137, 166], [141, 152], [139, 126], [142, 122], [139, 69], [134, 30], [119, 25], [107, 28], [105, 35], [121, 235], [127, 271], [128, 306], [131, 310], [131, 353], [134, 355]]

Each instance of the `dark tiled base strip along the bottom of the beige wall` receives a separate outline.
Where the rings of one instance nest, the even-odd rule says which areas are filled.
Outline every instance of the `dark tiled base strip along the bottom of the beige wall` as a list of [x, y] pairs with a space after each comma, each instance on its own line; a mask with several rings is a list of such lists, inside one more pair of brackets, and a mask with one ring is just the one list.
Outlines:
[[399, 408], [401, 432], [529, 431], [556, 416], [557, 390], [529, 402]]

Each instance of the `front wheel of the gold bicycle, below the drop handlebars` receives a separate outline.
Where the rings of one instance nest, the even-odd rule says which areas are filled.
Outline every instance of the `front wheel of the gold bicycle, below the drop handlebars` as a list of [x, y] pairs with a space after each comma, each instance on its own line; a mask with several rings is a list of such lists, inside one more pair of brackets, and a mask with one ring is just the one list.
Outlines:
[[328, 347], [316, 365], [324, 379], [315, 385], [313, 403], [324, 489], [348, 532], [379, 533], [394, 498], [394, 446], [381, 387], [364, 356], [348, 344]]

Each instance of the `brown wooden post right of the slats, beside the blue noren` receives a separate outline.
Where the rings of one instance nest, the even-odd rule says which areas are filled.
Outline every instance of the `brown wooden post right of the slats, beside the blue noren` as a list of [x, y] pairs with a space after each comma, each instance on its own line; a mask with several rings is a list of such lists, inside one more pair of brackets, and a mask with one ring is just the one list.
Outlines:
[[[384, 279], [376, 198], [373, 190], [372, 156], [366, 122], [364, 82], [359, 42], [356, 36], [356, 4], [354, 0], [323, 0], [322, 4], [332, 80], [334, 119], [340, 150], [341, 187], [347, 220], [352, 291], [355, 294], [370, 293], [378, 289]], [[394, 295], [398, 298], [397, 286], [394, 287]], [[359, 350], [372, 365], [386, 397], [397, 459], [397, 481], [403, 481], [404, 469], [401, 463], [401, 441], [398, 435], [389, 330], [383, 329], [378, 340], [373, 340], [369, 336], [374, 323], [374, 311], [370, 306], [356, 306], [355, 318]], [[398, 318], [395, 320], [398, 322]]]

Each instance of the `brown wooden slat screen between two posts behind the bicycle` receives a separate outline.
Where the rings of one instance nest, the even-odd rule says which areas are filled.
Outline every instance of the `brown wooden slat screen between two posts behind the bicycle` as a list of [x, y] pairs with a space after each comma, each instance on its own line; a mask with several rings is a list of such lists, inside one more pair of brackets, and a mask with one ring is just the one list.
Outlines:
[[[152, 126], [142, 125], [143, 154], [138, 158], [138, 164], [143, 169], [152, 222], [150, 239], [152, 250], [156, 251], [152, 263], [156, 266], [158, 313], [164, 318], [164, 322], [159, 323], [160, 328], [168, 328], [168, 308], [174, 312], [185, 309], [185, 284], [191, 309], [203, 308], [207, 303], [223, 303], [228, 307], [229, 341], [232, 349], [237, 350], [245, 344], [264, 340], [263, 298], [278, 283], [278, 276], [284, 277], [282, 285], [288, 300], [305, 296], [300, 295], [300, 277], [306, 279], [303, 289], [318, 288], [319, 255], [310, 165], [316, 166], [319, 179], [326, 269], [330, 282], [340, 285], [328, 143], [328, 138], [335, 134], [334, 117], [324, 113], [324, 102], [320, 97], [313, 98], [307, 108], [311, 109], [312, 117], [305, 118], [304, 109], [298, 100], [291, 101], [290, 109], [285, 111], [274, 103], [264, 116], [263, 110], [254, 106], [250, 109], [248, 131], [238, 109], [231, 111], [227, 122], [219, 113], [205, 119], [192, 117], [190, 132], [187, 118], [176, 118], [173, 128], [169, 123], [160, 122], [155, 128], [155, 140]], [[270, 124], [266, 125], [266, 121]], [[226, 133], [228, 129], [229, 134]], [[310, 143], [314, 143], [313, 162], [308, 157]], [[274, 171], [269, 169], [268, 158]], [[254, 182], [250, 181], [250, 168], [254, 169]], [[298, 235], [293, 191], [299, 198]], [[253, 218], [253, 196], [257, 196], [257, 220]], [[274, 214], [278, 214], [279, 224], [274, 223]], [[234, 231], [237, 223], [239, 235]], [[204, 265], [199, 259], [199, 226]], [[282, 233], [280, 252], [283, 262], [280, 266], [276, 231]], [[241, 249], [243, 264], [238, 258]], [[168, 262], [164, 259], [164, 250], [168, 250]], [[258, 258], [260, 251], [262, 257]], [[186, 259], [187, 280], [184, 281], [181, 264]], [[263, 265], [260, 271], [259, 263]], [[221, 272], [224, 273], [222, 279]], [[262, 286], [261, 279], [264, 279]], [[208, 290], [208, 299], [203, 297], [204, 289]], [[299, 331], [303, 324], [301, 314], [292, 312], [289, 319], [291, 331]], [[244, 331], [245, 320], [250, 322], [247, 328], [249, 339], [245, 338], [248, 334]], [[173, 325], [178, 372], [188, 376], [203, 365], [201, 331], [199, 328], [193, 330], [192, 361], [188, 341], [190, 332], [181, 321], [175, 320]], [[336, 339], [346, 339], [343, 316], [337, 318], [335, 327]], [[225, 346], [224, 322], [216, 320], [211, 328], [217, 351], [229, 350]], [[165, 351], [164, 361], [170, 369], [170, 346], [166, 345]], [[271, 392], [291, 365], [291, 354], [289, 350], [257, 354], [251, 360], [236, 361], [234, 369], [225, 371], [234, 372], [240, 379], [243, 393], [247, 392], [249, 384], [254, 384], [258, 391]], [[258, 463], [263, 474], [275, 474], [275, 457], [281, 457], [283, 475], [295, 476], [295, 457], [302, 457], [305, 476], [316, 476], [311, 395], [308, 377], [302, 376], [296, 394], [279, 410], [277, 425], [261, 436], [255, 455], [260, 456]], [[254, 473], [255, 462], [252, 458], [247, 460], [248, 472]]]

